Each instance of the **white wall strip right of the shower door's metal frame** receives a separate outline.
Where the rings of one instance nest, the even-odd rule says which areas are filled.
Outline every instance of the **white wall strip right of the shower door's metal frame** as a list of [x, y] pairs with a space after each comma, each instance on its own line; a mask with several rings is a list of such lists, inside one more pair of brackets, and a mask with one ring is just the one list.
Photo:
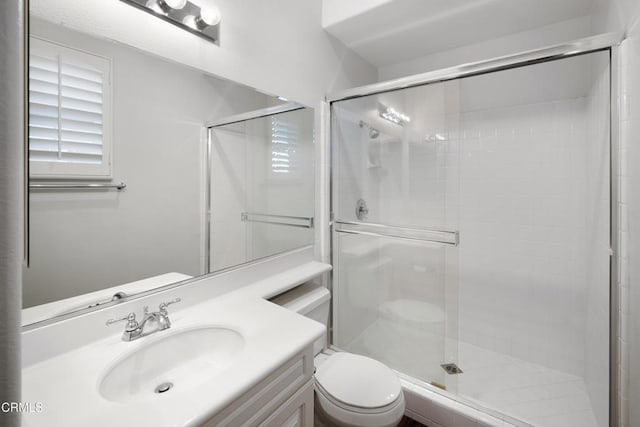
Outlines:
[[640, 425], [640, 3], [598, 0], [595, 32], [624, 31], [620, 46], [620, 384], [621, 425]]

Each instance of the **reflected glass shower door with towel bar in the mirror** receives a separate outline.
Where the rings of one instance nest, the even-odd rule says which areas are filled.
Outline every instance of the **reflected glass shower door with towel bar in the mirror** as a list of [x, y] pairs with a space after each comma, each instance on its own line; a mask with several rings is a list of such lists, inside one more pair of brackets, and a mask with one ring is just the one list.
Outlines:
[[286, 107], [210, 128], [210, 271], [313, 242], [313, 111]]

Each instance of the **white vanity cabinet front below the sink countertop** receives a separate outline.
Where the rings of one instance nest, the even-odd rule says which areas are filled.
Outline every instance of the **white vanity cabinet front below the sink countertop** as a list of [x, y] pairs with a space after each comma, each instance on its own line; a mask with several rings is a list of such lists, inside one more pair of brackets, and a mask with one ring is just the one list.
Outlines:
[[203, 426], [312, 427], [312, 346], [287, 360]]

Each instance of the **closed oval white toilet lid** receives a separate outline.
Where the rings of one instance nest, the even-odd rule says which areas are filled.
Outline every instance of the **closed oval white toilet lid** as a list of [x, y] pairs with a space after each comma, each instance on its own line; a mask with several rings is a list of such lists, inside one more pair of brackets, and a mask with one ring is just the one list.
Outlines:
[[316, 370], [316, 381], [334, 399], [359, 408], [380, 408], [402, 392], [396, 374], [368, 357], [338, 352]]

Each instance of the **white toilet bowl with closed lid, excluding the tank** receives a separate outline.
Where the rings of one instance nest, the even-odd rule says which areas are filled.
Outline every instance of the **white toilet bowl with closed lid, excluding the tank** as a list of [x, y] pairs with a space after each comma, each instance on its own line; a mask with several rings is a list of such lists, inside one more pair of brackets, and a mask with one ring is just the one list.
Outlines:
[[395, 426], [404, 414], [396, 374], [368, 357], [338, 352], [317, 367], [316, 403], [345, 425]]

